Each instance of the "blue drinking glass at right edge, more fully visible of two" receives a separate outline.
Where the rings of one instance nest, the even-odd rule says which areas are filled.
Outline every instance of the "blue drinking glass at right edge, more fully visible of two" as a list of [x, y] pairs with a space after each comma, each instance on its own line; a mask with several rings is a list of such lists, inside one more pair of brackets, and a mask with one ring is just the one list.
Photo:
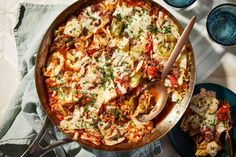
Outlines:
[[236, 5], [222, 4], [207, 17], [207, 31], [217, 43], [225, 46], [236, 44]]

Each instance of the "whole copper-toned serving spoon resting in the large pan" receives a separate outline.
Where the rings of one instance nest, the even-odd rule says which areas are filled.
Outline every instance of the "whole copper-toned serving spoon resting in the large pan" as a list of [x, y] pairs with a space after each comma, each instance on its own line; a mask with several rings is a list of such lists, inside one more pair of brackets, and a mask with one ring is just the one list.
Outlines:
[[137, 120], [141, 122], [147, 122], [152, 119], [154, 119], [165, 107], [167, 98], [168, 98], [168, 93], [167, 89], [164, 85], [164, 80], [168, 73], [171, 70], [171, 67], [175, 63], [177, 57], [179, 56], [182, 48], [184, 47], [188, 36], [193, 28], [193, 25], [196, 21], [196, 16], [193, 16], [188, 23], [188, 25], [185, 27], [182, 35], [180, 36], [179, 40], [177, 41], [173, 52], [171, 53], [164, 69], [161, 74], [161, 79], [160, 80], [155, 80], [147, 85], [148, 90], [150, 91], [151, 95], [153, 95], [156, 99], [156, 104], [154, 108], [148, 113], [148, 114], [143, 114], [142, 116], [137, 116]]

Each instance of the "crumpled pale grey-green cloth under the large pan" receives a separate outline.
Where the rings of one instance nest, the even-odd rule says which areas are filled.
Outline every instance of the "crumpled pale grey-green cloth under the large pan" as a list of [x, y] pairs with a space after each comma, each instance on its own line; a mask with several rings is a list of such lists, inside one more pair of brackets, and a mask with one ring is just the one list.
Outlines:
[[[18, 51], [21, 83], [0, 122], [0, 157], [19, 157], [41, 130], [45, 113], [41, 107], [34, 82], [35, 57], [47, 28], [66, 5], [21, 3], [14, 28]], [[45, 144], [66, 138], [55, 126], [44, 138]], [[129, 152], [106, 152], [81, 148], [77, 142], [60, 146], [45, 156], [158, 156], [160, 142], [156, 141]]]

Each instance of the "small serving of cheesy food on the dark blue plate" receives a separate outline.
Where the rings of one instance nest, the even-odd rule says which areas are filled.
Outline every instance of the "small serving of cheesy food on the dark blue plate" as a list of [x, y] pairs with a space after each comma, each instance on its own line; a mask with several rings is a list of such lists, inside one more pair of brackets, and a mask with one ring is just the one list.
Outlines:
[[181, 129], [196, 144], [196, 156], [216, 156], [222, 149], [220, 136], [231, 127], [230, 105], [220, 103], [216, 93], [202, 88], [192, 97], [181, 121]]

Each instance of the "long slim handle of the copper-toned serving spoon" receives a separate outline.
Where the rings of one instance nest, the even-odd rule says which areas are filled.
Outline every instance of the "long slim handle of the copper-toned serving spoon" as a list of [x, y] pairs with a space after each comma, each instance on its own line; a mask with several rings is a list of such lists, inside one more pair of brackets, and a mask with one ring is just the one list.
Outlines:
[[175, 60], [177, 59], [177, 57], [179, 56], [182, 48], [184, 47], [188, 36], [193, 28], [193, 25], [196, 21], [196, 16], [193, 16], [189, 22], [189, 24], [185, 27], [182, 35], [180, 36], [179, 40], [177, 41], [175, 48], [173, 50], [173, 52], [171, 53], [165, 67], [164, 70], [161, 74], [161, 79], [164, 80], [167, 76], [167, 74], [170, 72], [171, 67], [173, 66]]

